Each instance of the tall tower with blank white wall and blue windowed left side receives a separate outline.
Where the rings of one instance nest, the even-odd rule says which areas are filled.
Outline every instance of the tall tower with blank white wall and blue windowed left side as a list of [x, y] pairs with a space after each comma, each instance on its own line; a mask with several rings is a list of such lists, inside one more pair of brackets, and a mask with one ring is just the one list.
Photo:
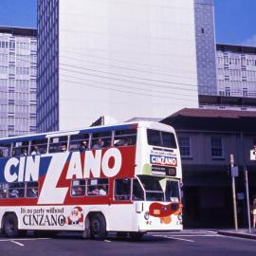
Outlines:
[[198, 106], [193, 0], [39, 0], [39, 132]]

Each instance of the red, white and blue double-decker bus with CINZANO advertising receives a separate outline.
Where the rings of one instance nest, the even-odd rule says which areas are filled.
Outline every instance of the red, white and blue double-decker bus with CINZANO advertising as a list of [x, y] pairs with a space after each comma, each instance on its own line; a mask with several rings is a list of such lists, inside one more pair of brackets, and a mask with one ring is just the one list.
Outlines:
[[158, 122], [0, 139], [0, 224], [141, 238], [182, 229], [181, 162], [174, 129]]

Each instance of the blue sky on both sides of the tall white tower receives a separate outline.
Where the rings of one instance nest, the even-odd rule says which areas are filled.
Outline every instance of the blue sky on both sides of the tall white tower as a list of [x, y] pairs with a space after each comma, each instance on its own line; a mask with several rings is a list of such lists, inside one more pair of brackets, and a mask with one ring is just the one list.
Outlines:
[[[36, 27], [37, 0], [0, 0], [0, 26]], [[256, 46], [256, 0], [214, 0], [216, 42]]]

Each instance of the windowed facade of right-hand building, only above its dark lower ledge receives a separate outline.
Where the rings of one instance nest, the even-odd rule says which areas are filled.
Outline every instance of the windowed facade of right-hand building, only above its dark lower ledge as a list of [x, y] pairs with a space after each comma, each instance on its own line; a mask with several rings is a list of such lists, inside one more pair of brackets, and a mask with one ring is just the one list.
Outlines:
[[219, 96], [256, 98], [256, 47], [217, 45]]

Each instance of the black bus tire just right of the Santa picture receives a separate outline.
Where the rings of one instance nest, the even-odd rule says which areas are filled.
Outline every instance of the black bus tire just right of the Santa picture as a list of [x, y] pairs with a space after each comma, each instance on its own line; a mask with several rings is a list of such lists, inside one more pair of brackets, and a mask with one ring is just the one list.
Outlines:
[[106, 237], [106, 221], [101, 213], [95, 213], [91, 216], [90, 230], [94, 239], [102, 240]]

